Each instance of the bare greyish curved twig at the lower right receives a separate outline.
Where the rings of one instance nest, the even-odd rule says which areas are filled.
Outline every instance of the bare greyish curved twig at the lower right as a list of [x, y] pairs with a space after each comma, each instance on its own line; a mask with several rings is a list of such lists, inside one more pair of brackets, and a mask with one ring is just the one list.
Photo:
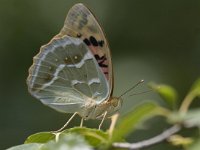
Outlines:
[[141, 142], [136, 142], [136, 143], [113, 143], [113, 147], [127, 148], [131, 150], [145, 148], [145, 147], [160, 143], [168, 139], [171, 135], [179, 132], [180, 130], [181, 130], [181, 127], [179, 125], [174, 125], [171, 128], [165, 130], [164, 132], [162, 132], [161, 134], [153, 138], [150, 138]]

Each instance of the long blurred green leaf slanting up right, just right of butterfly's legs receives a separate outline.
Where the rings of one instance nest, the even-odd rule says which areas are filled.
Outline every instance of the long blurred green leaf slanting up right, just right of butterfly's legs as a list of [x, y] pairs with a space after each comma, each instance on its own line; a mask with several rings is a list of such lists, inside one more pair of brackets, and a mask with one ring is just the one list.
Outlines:
[[127, 136], [127, 134], [130, 134], [130, 132], [134, 131], [139, 123], [142, 123], [144, 120], [152, 117], [157, 108], [158, 105], [150, 102], [141, 104], [134, 108], [133, 111], [128, 113], [119, 121], [119, 124], [114, 129], [111, 142], [120, 141], [122, 138]]

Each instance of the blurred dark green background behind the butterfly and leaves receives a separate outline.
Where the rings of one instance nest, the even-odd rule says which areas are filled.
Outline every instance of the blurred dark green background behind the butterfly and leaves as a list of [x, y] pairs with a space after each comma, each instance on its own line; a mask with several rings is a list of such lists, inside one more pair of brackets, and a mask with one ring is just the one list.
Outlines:
[[[174, 86], [182, 99], [200, 76], [199, 0], [1, 0], [0, 149], [22, 144], [35, 132], [56, 130], [69, 118], [31, 97], [26, 78], [32, 57], [60, 31], [69, 8], [77, 2], [92, 10], [107, 35], [114, 65], [114, 95], [144, 79]], [[135, 92], [146, 90], [146, 83]], [[153, 92], [125, 99], [121, 114], [146, 99], [162, 103]], [[75, 118], [70, 127], [79, 122], [80, 118]], [[160, 122], [151, 122], [153, 128], [136, 132], [129, 141], [161, 132], [166, 124]], [[98, 124], [87, 121], [84, 125]], [[162, 144], [152, 149], [160, 146], [164, 149]]]

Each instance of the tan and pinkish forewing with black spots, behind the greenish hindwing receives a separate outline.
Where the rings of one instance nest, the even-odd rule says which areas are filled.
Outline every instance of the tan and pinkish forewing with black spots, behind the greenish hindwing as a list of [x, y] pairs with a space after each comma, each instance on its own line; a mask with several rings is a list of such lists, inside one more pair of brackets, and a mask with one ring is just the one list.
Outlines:
[[113, 89], [113, 75], [108, 43], [97, 20], [83, 4], [76, 4], [69, 10], [64, 27], [57, 37], [65, 35], [80, 38], [89, 47], [108, 80], [110, 95]]

